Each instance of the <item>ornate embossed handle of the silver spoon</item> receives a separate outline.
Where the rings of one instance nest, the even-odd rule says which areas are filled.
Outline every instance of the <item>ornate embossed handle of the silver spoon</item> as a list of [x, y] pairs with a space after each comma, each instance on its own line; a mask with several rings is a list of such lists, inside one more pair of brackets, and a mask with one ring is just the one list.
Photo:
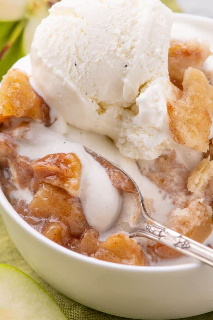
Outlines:
[[147, 220], [142, 228], [136, 227], [131, 230], [131, 238], [140, 236], [165, 244], [176, 251], [202, 260], [213, 267], [213, 249], [186, 236], [182, 236], [178, 232], [162, 226], [153, 219]]

